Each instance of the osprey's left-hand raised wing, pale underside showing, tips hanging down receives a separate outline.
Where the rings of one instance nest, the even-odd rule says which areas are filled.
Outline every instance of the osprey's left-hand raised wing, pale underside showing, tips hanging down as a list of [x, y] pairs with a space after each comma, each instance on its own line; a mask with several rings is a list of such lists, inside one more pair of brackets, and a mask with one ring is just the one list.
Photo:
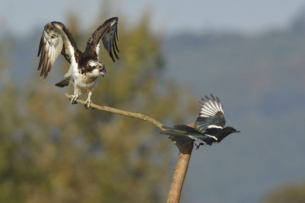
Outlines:
[[75, 41], [70, 31], [59, 22], [51, 22], [45, 25], [39, 44], [38, 57], [41, 54], [38, 71], [42, 68], [40, 77], [47, 78], [54, 61], [61, 53], [66, 61], [75, 62], [75, 56], [79, 54]]

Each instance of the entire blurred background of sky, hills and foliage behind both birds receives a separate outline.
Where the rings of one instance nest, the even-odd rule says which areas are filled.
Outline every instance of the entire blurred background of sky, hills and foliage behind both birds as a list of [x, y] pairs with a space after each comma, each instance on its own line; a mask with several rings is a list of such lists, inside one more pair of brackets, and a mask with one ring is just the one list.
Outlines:
[[[118, 16], [118, 54], [100, 59], [92, 102], [156, 118], [196, 120], [213, 93], [241, 131], [192, 152], [181, 202], [304, 202], [305, 2], [2, 1], [0, 201], [165, 202], [178, 149], [143, 121], [70, 105], [37, 51], [60, 21], [84, 51]], [[87, 96], [81, 96], [85, 99]], [[132, 188], [132, 189], [131, 189]], [[17, 194], [16, 194], [17, 193]]]

